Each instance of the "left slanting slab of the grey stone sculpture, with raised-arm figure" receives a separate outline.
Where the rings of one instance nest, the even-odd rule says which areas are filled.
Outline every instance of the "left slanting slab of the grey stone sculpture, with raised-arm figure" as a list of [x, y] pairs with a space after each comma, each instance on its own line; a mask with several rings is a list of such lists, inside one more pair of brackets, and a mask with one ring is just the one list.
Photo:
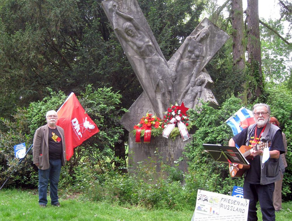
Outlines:
[[105, 0], [102, 7], [144, 92], [161, 116], [171, 99], [174, 101], [173, 82], [168, 64], [137, 1]]

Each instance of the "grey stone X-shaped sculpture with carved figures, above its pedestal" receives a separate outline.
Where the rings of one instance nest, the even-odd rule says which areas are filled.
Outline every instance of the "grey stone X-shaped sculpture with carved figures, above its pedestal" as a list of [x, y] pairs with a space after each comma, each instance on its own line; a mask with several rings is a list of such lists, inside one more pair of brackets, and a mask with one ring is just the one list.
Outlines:
[[162, 117], [175, 102], [218, 105], [204, 67], [229, 38], [225, 32], [204, 18], [167, 62], [136, 0], [105, 0], [102, 7], [143, 88], [121, 119], [128, 131], [147, 111]]

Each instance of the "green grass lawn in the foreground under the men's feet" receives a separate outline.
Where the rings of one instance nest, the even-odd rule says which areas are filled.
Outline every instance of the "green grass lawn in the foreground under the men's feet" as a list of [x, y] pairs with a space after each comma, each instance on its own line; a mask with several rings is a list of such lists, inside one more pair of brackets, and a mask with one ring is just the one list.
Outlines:
[[[70, 199], [71, 198], [71, 199]], [[75, 198], [75, 199], [74, 199]], [[194, 211], [147, 210], [135, 206], [118, 206], [92, 202], [62, 194], [61, 207], [40, 208], [36, 190], [2, 189], [0, 191], [0, 220], [188, 220]], [[292, 202], [282, 204], [276, 220], [292, 220]], [[258, 207], [259, 208], [259, 207]], [[262, 220], [260, 210], [258, 218]]]

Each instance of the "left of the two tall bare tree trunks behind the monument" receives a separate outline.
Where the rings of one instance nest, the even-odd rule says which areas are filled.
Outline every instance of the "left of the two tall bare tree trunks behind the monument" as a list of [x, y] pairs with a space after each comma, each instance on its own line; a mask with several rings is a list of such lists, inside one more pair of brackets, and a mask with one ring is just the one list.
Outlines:
[[[245, 74], [245, 57], [244, 57], [244, 27], [243, 27], [243, 10], [242, 10], [242, 0], [232, 0], [231, 8], [231, 18], [232, 18], [232, 37], [233, 37], [233, 65], [234, 69], [242, 74]], [[246, 95], [246, 83], [241, 84], [241, 100], [246, 105], [247, 95]]]

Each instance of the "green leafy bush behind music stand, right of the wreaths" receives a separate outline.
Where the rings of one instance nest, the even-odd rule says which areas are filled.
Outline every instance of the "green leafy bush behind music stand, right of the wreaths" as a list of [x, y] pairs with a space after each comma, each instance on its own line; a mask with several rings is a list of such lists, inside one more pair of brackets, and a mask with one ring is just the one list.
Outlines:
[[227, 194], [233, 185], [242, 186], [243, 178], [231, 178], [228, 164], [214, 161], [202, 146], [203, 143], [228, 145], [233, 134], [225, 121], [242, 106], [239, 98], [231, 97], [218, 109], [203, 103], [189, 111], [190, 118], [195, 119], [194, 126], [197, 130], [192, 142], [185, 147], [185, 155], [188, 158], [189, 172], [194, 182], [197, 182], [198, 189]]

